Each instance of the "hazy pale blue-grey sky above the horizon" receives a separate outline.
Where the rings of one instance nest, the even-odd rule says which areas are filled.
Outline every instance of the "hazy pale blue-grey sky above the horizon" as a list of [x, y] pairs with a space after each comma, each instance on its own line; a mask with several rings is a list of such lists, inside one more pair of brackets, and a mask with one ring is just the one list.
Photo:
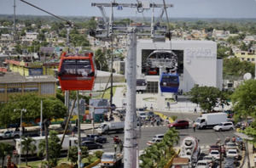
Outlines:
[[[90, 3], [109, 3], [110, 0], [26, 0], [57, 15], [100, 16], [99, 9]], [[163, 3], [162, 0], [150, 0]], [[136, 0], [116, 0], [118, 3], [136, 3]], [[171, 18], [256, 18], [256, 0], [166, 0]], [[13, 14], [14, 0], [0, 0], [0, 14]], [[16, 0], [16, 14], [47, 15], [26, 3]], [[108, 8], [109, 9], [109, 8]], [[106, 9], [108, 14], [108, 9]], [[157, 12], [157, 11], [156, 11]], [[145, 16], [151, 12], [145, 11]], [[141, 17], [135, 8], [114, 9], [114, 16]]]

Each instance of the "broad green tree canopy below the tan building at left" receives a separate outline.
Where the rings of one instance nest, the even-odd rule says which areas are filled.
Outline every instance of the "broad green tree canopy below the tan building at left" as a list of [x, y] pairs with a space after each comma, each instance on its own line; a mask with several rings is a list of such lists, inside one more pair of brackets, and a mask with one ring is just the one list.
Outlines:
[[16, 95], [10, 98], [8, 103], [2, 104], [0, 126], [20, 123], [20, 109], [26, 109], [26, 113], [23, 113], [25, 122], [40, 118], [41, 99], [44, 119], [63, 118], [66, 115], [67, 108], [58, 98], [41, 98], [35, 94]]

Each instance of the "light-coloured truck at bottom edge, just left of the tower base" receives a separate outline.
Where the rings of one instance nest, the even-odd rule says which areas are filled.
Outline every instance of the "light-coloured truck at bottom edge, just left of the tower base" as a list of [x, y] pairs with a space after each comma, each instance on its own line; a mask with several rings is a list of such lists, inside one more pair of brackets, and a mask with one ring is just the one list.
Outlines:
[[123, 154], [116, 154], [114, 152], [105, 152], [102, 154], [101, 167], [118, 167], [121, 165]]

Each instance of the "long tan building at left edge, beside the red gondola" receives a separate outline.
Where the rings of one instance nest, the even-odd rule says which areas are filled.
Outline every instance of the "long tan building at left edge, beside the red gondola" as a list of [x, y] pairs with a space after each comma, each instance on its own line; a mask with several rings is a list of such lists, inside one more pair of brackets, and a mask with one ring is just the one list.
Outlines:
[[54, 76], [21, 76], [18, 72], [0, 72], [0, 103], [11, 96], [35, 93], [38, 96], [55, 96]]

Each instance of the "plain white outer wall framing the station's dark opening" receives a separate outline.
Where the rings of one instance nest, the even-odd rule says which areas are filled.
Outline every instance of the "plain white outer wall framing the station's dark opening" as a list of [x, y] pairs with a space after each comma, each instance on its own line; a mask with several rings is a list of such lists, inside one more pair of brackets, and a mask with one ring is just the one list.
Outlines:
[[[173, 50], [183, 50], [183, 81], [180, 81], [180, 89], [188, 92], [195, 84], [218, 87], [216, 42], [172, 41], [171, 44]], [[142, 74], [143, 49], [171, 49], [171, 44], [169, 41], [138, 40], [137, 75]]]

